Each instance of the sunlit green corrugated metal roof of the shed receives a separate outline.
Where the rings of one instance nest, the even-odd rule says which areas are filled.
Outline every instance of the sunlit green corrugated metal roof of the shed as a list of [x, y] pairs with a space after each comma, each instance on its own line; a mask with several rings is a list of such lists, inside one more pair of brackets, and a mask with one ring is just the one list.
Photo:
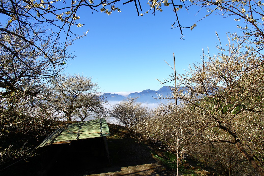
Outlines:
[[70, 142], [72, 140], [87, 139], [93, 137], [110, 136], [108, 125], [104, 118], [71, 123], [51, 133], [35, 149], [58, 142]]

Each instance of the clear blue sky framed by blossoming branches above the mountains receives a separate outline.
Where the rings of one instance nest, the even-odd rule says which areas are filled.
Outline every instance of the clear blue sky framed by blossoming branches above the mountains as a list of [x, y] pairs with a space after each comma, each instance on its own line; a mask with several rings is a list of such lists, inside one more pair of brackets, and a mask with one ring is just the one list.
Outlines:
[[[207, 47], [210, 54], [217, 53], [215, 31], [222, 45], [228, 42], [226, 32], [239, 31], [232, 16], [211, 15], [197, 22], [206, 10], [195, 15], [198, 7], [193, 7], [189, 14], [184, 9], [178, 14], [183, 26], [197, 24], [192, 31], [183, 30], [185, 40], [180, 40], [180, 30], [171, 29], [176, 19], [172, 7], [162, 6], [163, 12], [143, 17], [137, 15], [134, 3], [117, 7], [122, 12], [110, 16], [100, 11], [92, 14], [87, 8], [81, 8], [77, 16], [80, 16], [79, 23], [85, 25], [73, 30], [78, 34], [88, 29], [89, 32], [71, 46], [70, 51], [74, 51], [76, 58], [65, 69], [65, 73], [93, 77], [102, 92], [158, 90], [163, 85], [156, 79], [163, 80], [173, 73], [164, 62], [173, 65], [173, 53], [176, 70], [182, 74], [189, 64], [201, 61], [202, 48], [205, 54]], [[143, 12], [148, 8], [144, 7]]]

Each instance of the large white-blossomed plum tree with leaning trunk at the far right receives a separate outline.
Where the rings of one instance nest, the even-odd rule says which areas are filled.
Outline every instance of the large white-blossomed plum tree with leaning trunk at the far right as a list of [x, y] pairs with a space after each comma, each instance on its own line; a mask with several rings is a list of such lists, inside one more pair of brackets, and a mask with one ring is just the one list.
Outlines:
[[[178, 75], [174, 95], [192, 108], [207, 128], [204, 139], [236, 146], [264, 175], [263, 56], [256, 50], [239, 52], [240, 49], [242, 46], [229, 43], [226, 51], [222, 49], [213, 57], [204, 55], [201, 63]], [[174, 79], [172, 75], [165, 82]]]

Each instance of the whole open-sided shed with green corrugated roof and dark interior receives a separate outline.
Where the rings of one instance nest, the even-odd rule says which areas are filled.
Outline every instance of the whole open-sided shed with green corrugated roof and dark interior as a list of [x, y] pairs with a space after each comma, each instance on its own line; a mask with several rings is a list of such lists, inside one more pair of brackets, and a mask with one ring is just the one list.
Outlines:
[[70, 123], [51, 133], [34, 151], [40, 151], [41, 170], [47, 172], [54, 167], [68, 170], [67, 165], [72, 162], [78, 162], [82, 168], [92, 167], [96, 161], [110, 162], [106, 136], [110, 132], [104, 118]]

